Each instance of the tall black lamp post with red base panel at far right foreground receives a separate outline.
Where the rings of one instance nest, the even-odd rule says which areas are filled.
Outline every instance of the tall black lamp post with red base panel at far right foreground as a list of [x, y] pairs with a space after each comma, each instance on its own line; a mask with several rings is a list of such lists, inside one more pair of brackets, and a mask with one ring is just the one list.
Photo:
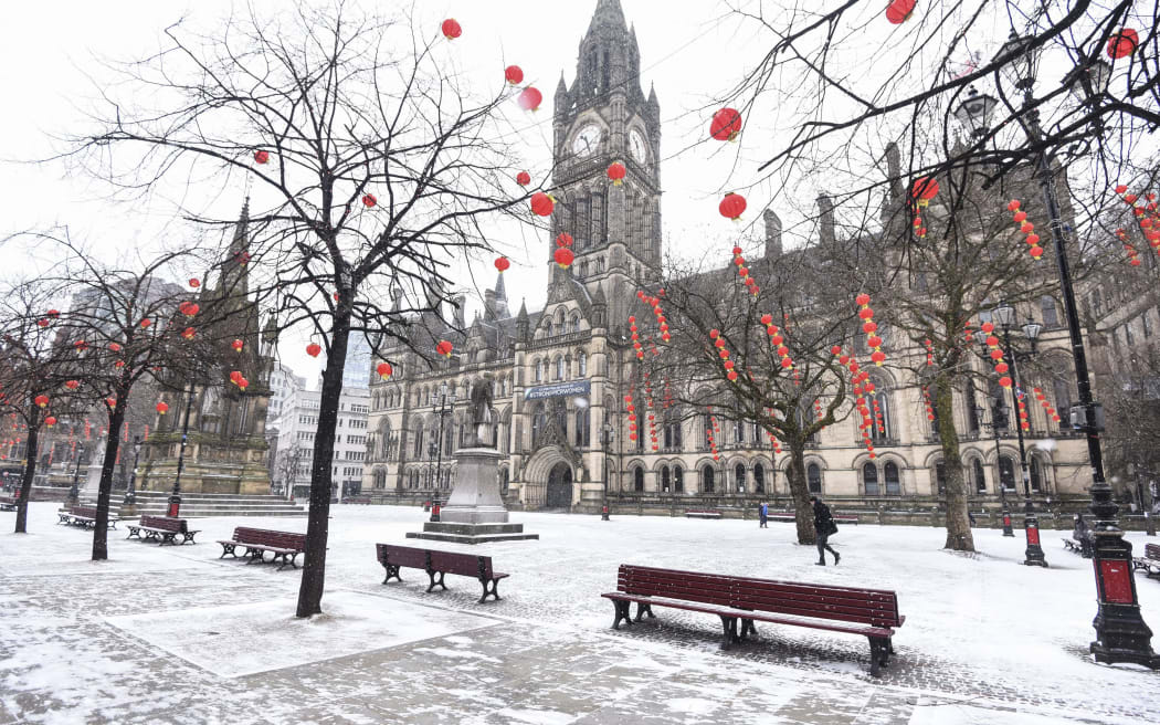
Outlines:
[[[1035, 96], [1032, 88], [1036, 80], [1039, 48], [1034, 46], [1034, 38], [1021, 38], [1015, 31], [999, 50], [999, 56], [1006, 59], [995, 73], [996, 84], [1000, 74], [1007, 75], [1012, 85], [1023, 94], [1022, 113], [1017, 118], [1031, 143], [1042, 139], [1039, 114], [1032, 108]], [[1111, 68], [1099, 59], [1101, 49], [1095, 49], [1090, 57], [1081, 57], [1080, 64], [1066, 78], [1068, 89], [1079, 97], [1081, 103], [1097, 107], [1104, 96]], [[960, 108], [969, 128], [974, 131], [986, 128], [989, 123], [987, 108], [976, 103], [977, 110]], [[993, 108], [993, 106], [992, 106]], [[1095, 114], [1099, 117], [1099, 114]], [[1095, 129], [1102, 132], [1102, 129]], [[1088, 376], [1087, 355], [1083, 349], [1082, 328], [1080, 327], [1079, 309], [1075, 304], [1075, 291], [1072, 288], [1071, 269], [1067, 249], [1064, 245], [1063, 223], [1060, 222], [1059, 203], [1056, 197], [1054, 179], [1045, 151], [1036, 153], [1036, 177], [1043, 191], [1044, 203], [1050, 217], [1051, 241], [1059, 267], [1059, 288], [1064, 302], [1064, 314], [1067, 319], [1067, 333], [1075, 361], [1075, 386], [1079, 403], [1071, 407], [1068, 416], [1072, 427], [1083, 433], [1087, 438], [1088, 458], [1092, 465], [1092, 503], [1095, 525], [1090, 530], [1093, 541], [1092, 565], [1096, 580], [1096, 616], [1092, 622], [1096, 639], [1090, 645], [1090, 652], [1097, 662], [1134, 662], [1153, 669], [1160, 669], [1160, 655], [1152, 651], [1152, 630], [1140, 615], [1139, 599], [1136, 594], [1136, 580], [1132, 577], [1132, 546], [1124, 541], [1124, 532], [1116, 522], [1119, 507], [1111, 500], [1111, 486], [1103, 472], [1103, 451], [1100, 447], [1100, 433], [1103, 430], [1103, 407], [1092, 398], [1092, 380]]]

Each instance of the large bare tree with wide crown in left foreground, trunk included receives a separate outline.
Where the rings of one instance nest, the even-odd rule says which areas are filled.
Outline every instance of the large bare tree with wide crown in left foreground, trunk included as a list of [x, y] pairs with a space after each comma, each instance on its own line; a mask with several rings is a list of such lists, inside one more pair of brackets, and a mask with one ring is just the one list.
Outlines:
[[[326, 9], [297, 2], [276, 19], [233, 17], [208, 36], [174, 26], [162, 52], [114, 67], [119, 82], [109, 87], [136, 95], [109, 96], [100, 128], [78, 139], [79, 158], [129, 189], [189, 174], [219, 183], [239, 176], [264, 200], [248, 240], [225, 262], [249, 264], [249, 293], [276, 309], [280, 327], [309, 326], [327, 361], [302, 617], [321, 611], [349, 334], [407, 345], [409, 313], [448, 302], [451, 264], [490, 249], [480, 225], [527, 198], [514, 182], [516, 139], [503, 123], [512, 92], [498, 78], [495, 93], [473, 99], [445, 43], [437, 28], [360, 14], [342, 1]], [[146, 96], [159, 107], [142, 108]], [[390, 305], [391, 288], [407, 304]], [[434, 349], [416, 351], [435, 357]]]

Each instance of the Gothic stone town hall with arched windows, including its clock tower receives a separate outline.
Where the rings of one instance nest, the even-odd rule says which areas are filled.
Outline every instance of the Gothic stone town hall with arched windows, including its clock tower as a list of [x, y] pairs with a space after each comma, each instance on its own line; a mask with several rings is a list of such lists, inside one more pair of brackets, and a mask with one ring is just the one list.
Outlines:
[[[465, 334], [434, 314], [420, 320], [420, 334], [455, 345], [456, 354], [435, 369], [404, 350], [386, 353], [394, 375], [371, 384], [362, 493], [384, 502], [445, 500], [455, 480], [454, 452], [474, 440], [473, 392], [485, 386], [499, 416], [495, 447], [506, 455], [501, 491], [514, 508], [599, 512], [607, 500], [614, 513], [682, 513], [788, 502], [788, 456], [775, 456], [764, 433], [749, 423], [723, 422], [717, 462], [703, 415], [660, 426], [655, 452], [644, 436], [629, 440], [623, 394], [635, 356], [626, 319], [636, 302], [633, 281], [661, 260], [660, 104], [654, 90], [646, 94], [640, 86], [636, 31], [617, 0], [599, 0], [580, 43], [575, 79], [568, 86], [561, 78], [553, 113], [551, 238], [572, 234], [575, 261], [560, 269], [545, 245], [543, 310], [513, 311], [500, 275], [473, 321], [452, 320]], [[628, 167], [621, 186], [609, 184], [604, 174], [614, 160]], [[781, 254], [781, 223], [769, 211], [764, 222], [766, 254]], [[1058, 369], [1068, 370], [1057, 300], [1044, 297], [1034, 310], [1018, 310], [1017, 319], [1028, 316], [1043, 325], [1041, 356], [1058, 355]], [[972, 510], [1016, 495], [1022, 485], [1009, 396], [1005, 420], [988, 403], [992, 391], [956, 393], [962, 461], [949, 463], [925, 413], [921, 386], [905, 375], [875, 371], [883, 411], [877, 457], [868, 457], [853, 416], [831, 426], [807, 451], [810, 488], [842, 508], [934, 510], [947, 466], [960, 465]], [[1074, 398], [1068, 375], [1035, 383], [1058, 411]], [[1090, 477], [1085, 442], [1031, 407], [1025, 435], [1036, 500], [1054, 506], [1071, 499], [1078, 506]]]

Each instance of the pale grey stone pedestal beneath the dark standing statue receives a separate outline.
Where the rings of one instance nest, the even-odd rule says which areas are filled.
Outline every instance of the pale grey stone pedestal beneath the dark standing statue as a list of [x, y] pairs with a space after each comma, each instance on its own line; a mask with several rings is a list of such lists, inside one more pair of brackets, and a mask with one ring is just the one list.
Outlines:
[[455, 488], [440, 512], [440, 521], [428, 521], [422, 531], [408, 532], [407, 538], [458, 544], [539, 538], [538, 534], [524, 534], [522, 523], [508, 523], [498, 476], [502, 457], [493, 448], [457, 450]]

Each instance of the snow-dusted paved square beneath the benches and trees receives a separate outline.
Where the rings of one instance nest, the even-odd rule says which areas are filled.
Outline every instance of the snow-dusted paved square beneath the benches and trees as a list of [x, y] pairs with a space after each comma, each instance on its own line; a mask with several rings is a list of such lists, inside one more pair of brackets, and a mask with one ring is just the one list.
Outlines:
[[[333, 510], [326, 614], [293, 618], [299, 577], [219, 560], [235, 525], [304, 530], [305, 520], [208, 519], [196, 546], [0, 515], [0, 724], [809, 723], [1045, 725], [1160, 720], [1160, 674], [1097, 666], [1089, 561], [1044, 532], [1050, 570], [1020, 565], [1022, 536], [978, 530], [977, 554], [940, 550], [941, 529], [842, 527], [841, 566], [815, 566], [789, 524], [515, 514], [541, 539], [472, 549], [493, 557], [500, 602], [449, 577], [427, 594], [404, 570], [382, 585], [376, 542], [404, 538], [414, 508]], [[1143, 548], [1143, 535], [1132, 535]], [[906, 624], [879, 680], [864, 638], [760, 625], [723, 652], [719, 623], [658, 609], [612, 631], [621, 563], [890, 588]], [[423, 583], [420, 583], [420, 582]], [[1160, 626], [1160, 581], [1137, 575]], [[1154, 641], [1160, 646], [1160, 638]]]

